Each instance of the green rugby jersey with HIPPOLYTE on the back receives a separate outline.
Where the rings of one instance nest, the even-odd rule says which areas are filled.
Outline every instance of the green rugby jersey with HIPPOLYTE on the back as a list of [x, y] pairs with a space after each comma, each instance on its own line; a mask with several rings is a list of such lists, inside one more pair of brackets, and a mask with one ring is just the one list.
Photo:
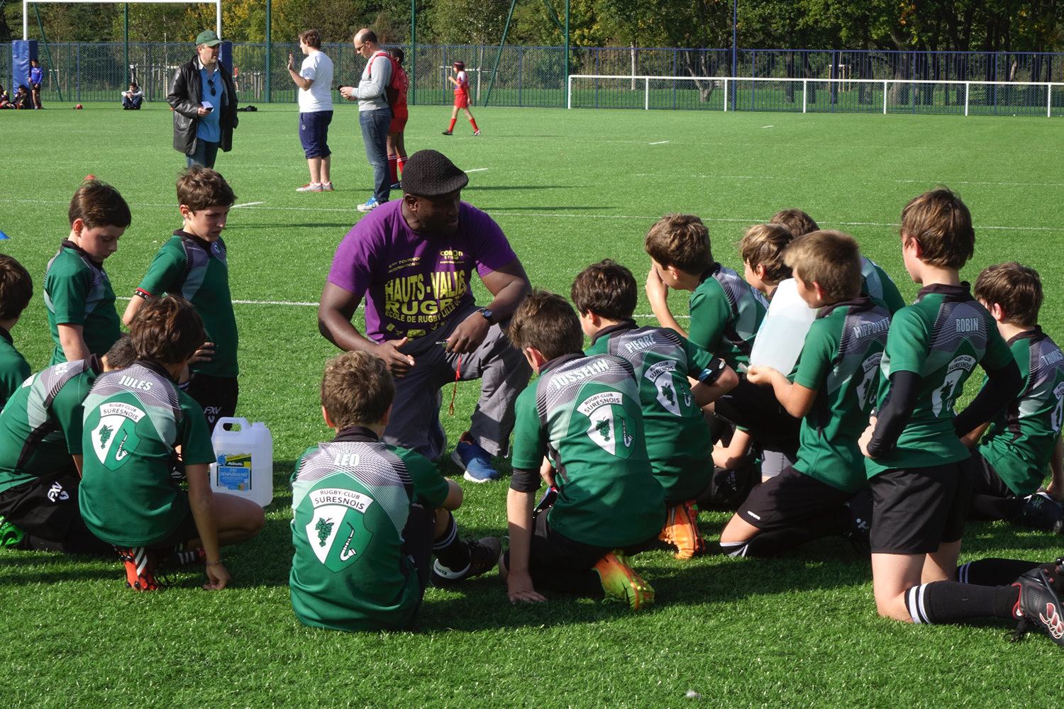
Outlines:
[[845, 492], [868, 485], [858, 439], [876, 403], [891, 314], [870, 298], [819, 309], [798, 360], [795, 384], [816, 390], [802, 418], [794, 469]]

